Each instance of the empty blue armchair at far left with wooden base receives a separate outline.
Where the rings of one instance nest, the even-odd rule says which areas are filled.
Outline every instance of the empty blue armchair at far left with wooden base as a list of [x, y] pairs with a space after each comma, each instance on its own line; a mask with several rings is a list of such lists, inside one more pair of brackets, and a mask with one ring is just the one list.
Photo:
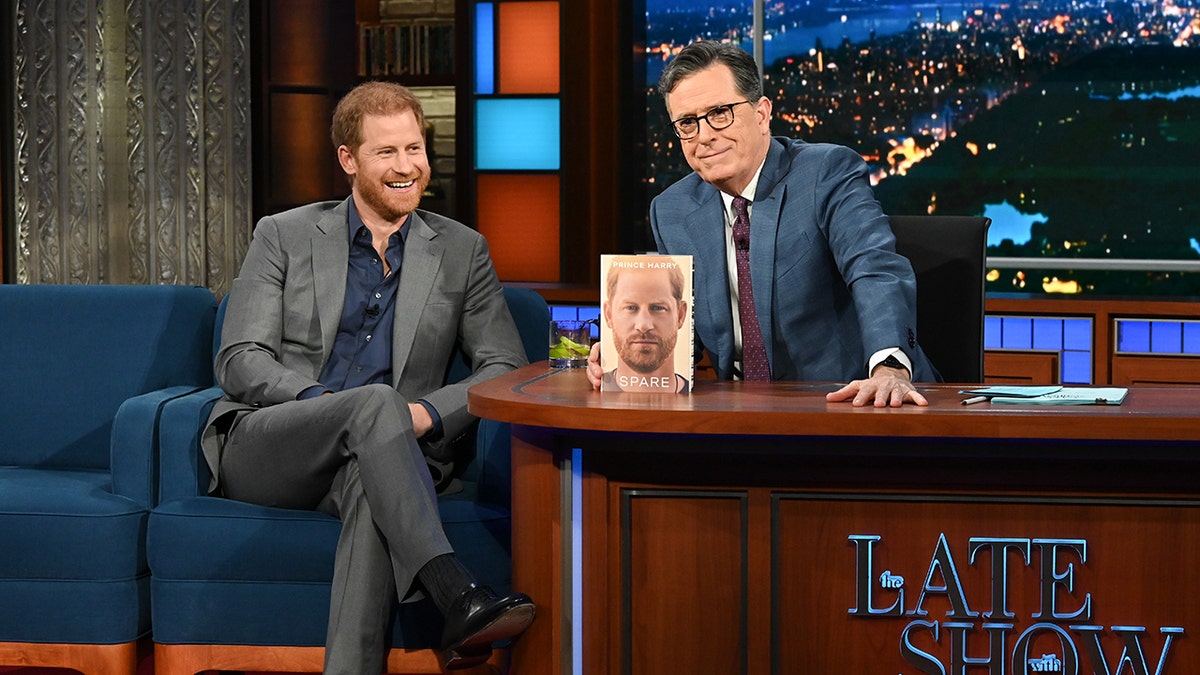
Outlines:
[[216, 298], [0, 286], [0, 665], [132, 675], [163, 404], [212, 383]]

